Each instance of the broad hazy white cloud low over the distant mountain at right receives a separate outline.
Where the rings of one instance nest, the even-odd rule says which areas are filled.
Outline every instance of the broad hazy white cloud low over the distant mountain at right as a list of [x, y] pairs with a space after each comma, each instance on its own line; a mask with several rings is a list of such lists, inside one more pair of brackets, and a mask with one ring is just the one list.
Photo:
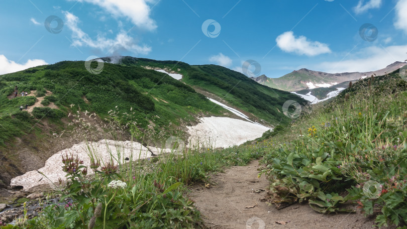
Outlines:
[[394, 45], [387, 47], [371, 46], [361, 49], [350, 58], [338, 62], [323, 62], [313, 66], [311, 69], [328, 73], [342, 72], [368, 72], [385, 68], [396, 61], [405, 60], [407, 45]]

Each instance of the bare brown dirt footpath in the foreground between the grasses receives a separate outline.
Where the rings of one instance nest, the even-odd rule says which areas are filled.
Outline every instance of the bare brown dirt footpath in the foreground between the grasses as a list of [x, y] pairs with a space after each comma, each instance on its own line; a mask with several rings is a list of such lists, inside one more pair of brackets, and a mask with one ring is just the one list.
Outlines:
[[[212, 177], [217, 186], [195, 186], [190, 198], [210, 228], [372, 228], [374, 220], [361, 213], [323, 215], [308, 204], [294, 204], [277, 210], [260, 199], [269, 181], [257, 178], [259, 162], [248, 166], [234, 166]], [[254, 207], [253, 207], [254, 206]], [[252, 208], [246, 208], [252, 207]], [[356, 207], [355, 207], [356, 208]], [[278, 224], [276, 221], [286, 224]], [[382, 227], [385, 228], [385, 227]], [[395, 227], [394, 227], [395, 228]]]

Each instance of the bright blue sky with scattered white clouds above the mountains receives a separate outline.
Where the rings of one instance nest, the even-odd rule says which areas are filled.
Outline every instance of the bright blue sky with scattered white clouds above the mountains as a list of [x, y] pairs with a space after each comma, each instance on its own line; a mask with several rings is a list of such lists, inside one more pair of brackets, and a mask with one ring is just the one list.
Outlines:
[[[299, 68], [370, 71], [407, 59], [407, 0], [16, 0], [0, 6], [0, 74], [112, 55], [237, 71], [254, 60], [269, 77]], [[61, 21], [62, 30], [53, 30]]]

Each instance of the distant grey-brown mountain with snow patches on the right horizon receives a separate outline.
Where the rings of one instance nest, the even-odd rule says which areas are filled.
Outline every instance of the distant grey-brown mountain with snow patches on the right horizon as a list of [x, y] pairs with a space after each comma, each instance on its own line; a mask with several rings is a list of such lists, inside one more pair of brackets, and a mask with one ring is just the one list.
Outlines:
[[314, 89], [321, 87], [338, 87], [337, 84], [346, 81], [359, 80], [365, 77], [370, 77], [373, 74], [385, 75], [407, 65], [404, 62], [394, 62], [387, 67], [371, 72], [345, 72], [345, 73], [325, 73], [320, 71], [312, 71], [302, 68], [291, 73], [288, 73], [279, 78], [268, 78], [265, 75], [259, 77], [251, 77], [258, 83], [269, 86], [271, 88], [285, 91], [299, 91], [304, 89]]

